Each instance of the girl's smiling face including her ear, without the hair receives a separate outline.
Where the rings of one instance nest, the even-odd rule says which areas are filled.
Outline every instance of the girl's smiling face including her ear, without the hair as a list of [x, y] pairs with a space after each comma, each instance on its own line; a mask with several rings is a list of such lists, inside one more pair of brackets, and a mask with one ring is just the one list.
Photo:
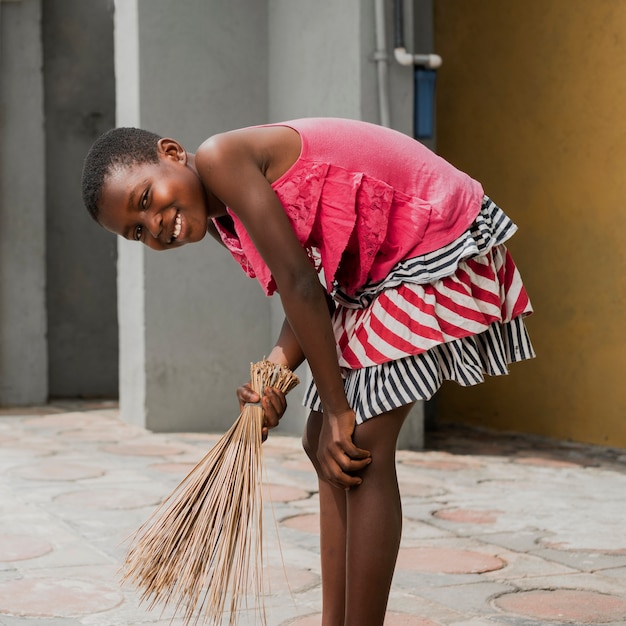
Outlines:
[[207, 232], [207, 195], [189, 155], [173, 140], [159, 142], [157, 163], [114, 167], [98, 209], [104, 228], [153, 250], [200, 241]]

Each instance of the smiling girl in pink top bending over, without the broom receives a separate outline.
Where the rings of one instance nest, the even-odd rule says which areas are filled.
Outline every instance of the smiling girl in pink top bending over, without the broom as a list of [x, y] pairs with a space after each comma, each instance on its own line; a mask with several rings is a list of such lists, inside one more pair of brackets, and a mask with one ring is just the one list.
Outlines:
[[[515, 225], [481, 185], [413, 139], [345, 119], [223, 133], [195, 154], [115, 129], [89, 152], [85, 204], [156, 250], [222, 242], [285, 322], [269, 360], [306, 359], [303, 442], [319, 476], [322, 626], [381, 626], [400, 544], [396, 440], [444, 379], [472, 385], [533, 350], [504, 242]], [[240, 402], [259, 398], [248, 386]], [[263, 398], [266, 428], [285, 410]]]

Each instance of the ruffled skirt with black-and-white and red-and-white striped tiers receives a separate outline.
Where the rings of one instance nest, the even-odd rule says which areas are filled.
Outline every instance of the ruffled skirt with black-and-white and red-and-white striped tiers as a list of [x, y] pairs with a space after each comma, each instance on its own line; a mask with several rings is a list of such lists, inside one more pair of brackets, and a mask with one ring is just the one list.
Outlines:
[[[451, 244], [398, 263], [356, 294], [335, 287], [338, 358], [357, 423], [428, 400], [444, 380], [475, 385], [535, 356], [523, 322], [532, 307], [504, 245], [516, 230], [485, 197]], [[322, 410], [313, 382], [303, 403]]]

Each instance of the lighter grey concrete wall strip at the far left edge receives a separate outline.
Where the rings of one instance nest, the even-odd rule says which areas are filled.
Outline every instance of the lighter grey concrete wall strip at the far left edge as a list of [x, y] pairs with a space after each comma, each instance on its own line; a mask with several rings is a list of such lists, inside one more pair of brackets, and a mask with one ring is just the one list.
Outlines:
[[0, 2], [0, 404], [48, 396], [41, 3]]

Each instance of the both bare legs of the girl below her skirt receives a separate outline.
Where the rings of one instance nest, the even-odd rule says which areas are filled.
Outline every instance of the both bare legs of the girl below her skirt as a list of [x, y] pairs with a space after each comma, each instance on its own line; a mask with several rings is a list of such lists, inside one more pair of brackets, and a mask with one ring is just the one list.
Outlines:
[[[359, 487], [344, 492], [319, 479], [322, 626], [383, 624], [402, 532], [395, 449], [411, 406], [357, 426], [355, 444], [372, 453]], [[303, 437], [318, 476], [321, 426], [312, 412]]]

